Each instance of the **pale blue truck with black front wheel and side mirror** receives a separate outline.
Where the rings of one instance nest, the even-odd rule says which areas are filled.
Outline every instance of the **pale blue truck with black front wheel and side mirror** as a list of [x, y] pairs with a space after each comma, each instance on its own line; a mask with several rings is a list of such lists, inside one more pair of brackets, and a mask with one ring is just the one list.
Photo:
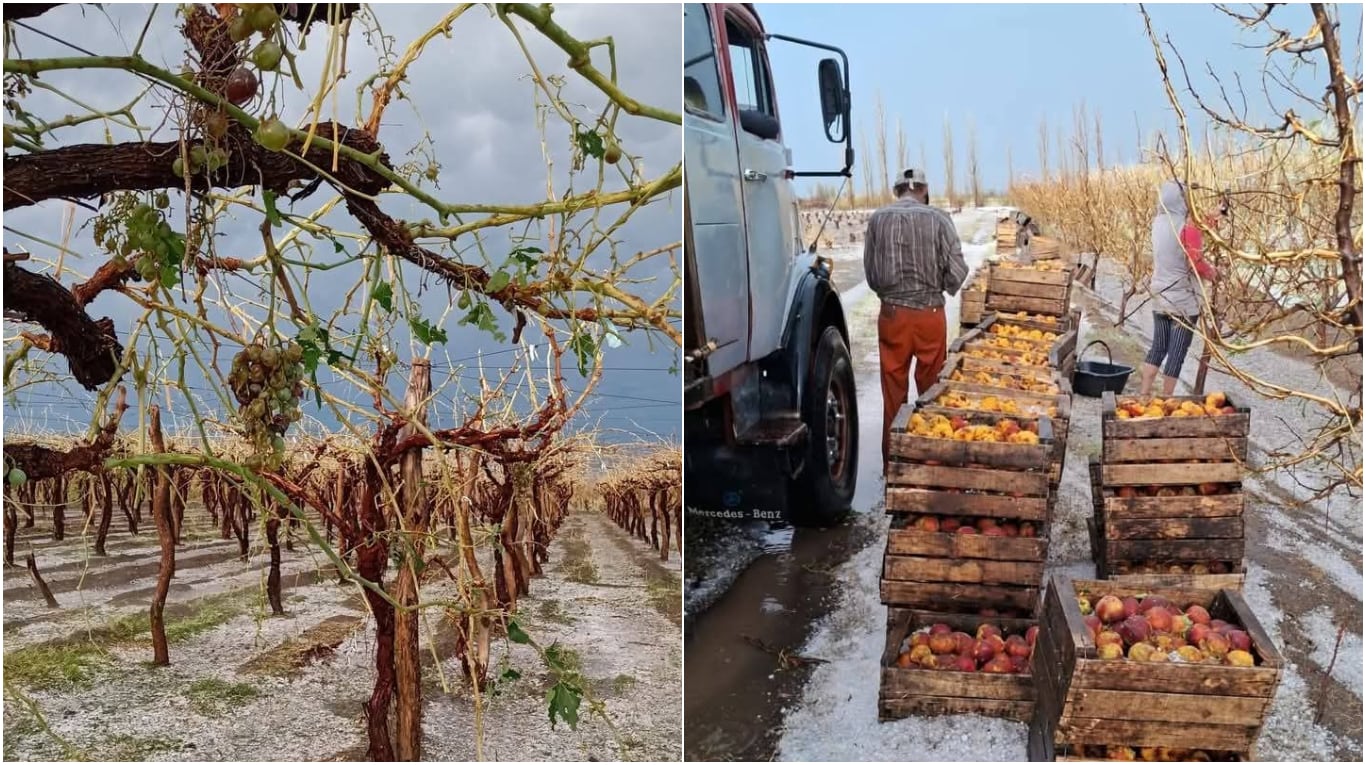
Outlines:
[[[854, 495], [858, 411], [829, 261], [802, 242], [800, 176], [848, 176], [848, 61], [765, 31], [751, 4], [684, 4], [684, 482], [693, 512], [829, 523]], [[795, 171], [768, 45], [817, 67], [844, 167]]]

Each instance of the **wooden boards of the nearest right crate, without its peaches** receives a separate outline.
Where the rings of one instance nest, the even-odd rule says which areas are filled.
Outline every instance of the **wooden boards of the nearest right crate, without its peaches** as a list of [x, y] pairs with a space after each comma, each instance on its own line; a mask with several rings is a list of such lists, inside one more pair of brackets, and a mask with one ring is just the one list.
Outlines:
[[[1203, 605], [1214, 619], [1239, 624], [1253, 642], [1255, 667], [1102, 661], [1076, 604], [1156, 594], [1186, 608]], [[1229, 589], [1150, 589], [1126, 582], [1049, 581], [1033, 657], [1035, 710], [1031, 738], [1046, 750], [1123, 743], [1250, 751], [1280, 683], [1283, 658], [1261, 623]]]

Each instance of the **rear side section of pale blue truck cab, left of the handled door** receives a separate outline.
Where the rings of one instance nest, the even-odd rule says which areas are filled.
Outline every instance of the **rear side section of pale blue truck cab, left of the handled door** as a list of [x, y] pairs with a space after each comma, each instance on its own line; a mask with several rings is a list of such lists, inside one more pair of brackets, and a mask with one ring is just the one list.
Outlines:
[[749, 359], [750, 262], [735, 113], [725, 102], [710, 19], [701, 3], [683, 7], [683, 163], [697, 281], [687, 295], [688, 321], [701, 317], [694, 324], [699, 344], [717, 343], [706, 365], [719, 377]]

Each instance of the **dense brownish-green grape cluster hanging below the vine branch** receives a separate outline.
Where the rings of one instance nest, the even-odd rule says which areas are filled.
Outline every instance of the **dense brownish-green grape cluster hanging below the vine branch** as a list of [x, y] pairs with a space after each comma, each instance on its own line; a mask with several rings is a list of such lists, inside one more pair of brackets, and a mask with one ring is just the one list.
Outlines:
[[238, 399], [246, 436], [255, 454], [247, 467], [279, 469], [284, 432], [299, 421], [303, 395], [303, 348], [298, 343], [251, 343], [232, 358], [228, 387]]

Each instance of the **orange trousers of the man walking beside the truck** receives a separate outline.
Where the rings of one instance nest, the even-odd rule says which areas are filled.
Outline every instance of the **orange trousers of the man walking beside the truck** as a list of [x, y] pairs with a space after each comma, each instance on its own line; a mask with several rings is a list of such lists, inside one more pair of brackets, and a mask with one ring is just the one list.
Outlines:
[[882, 369], [882, 474], [887, 474], [892, 421], [911, 391], [915, 361], [915, 395], [930, 389], [944, 369], [948, 325], [944, 309], [908, 309], [882, 303], [877, 317], [877, 355]]

